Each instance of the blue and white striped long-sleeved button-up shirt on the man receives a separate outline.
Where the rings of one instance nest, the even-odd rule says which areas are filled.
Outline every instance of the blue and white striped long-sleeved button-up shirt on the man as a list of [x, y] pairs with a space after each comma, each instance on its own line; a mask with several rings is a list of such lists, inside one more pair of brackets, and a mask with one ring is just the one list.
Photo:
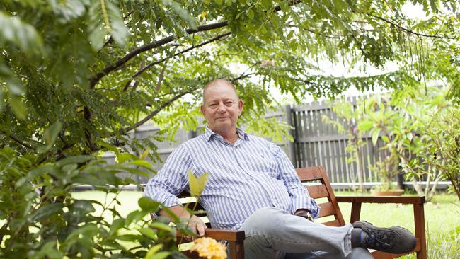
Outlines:
[[180, 205], [177, 195], [188, 188], [188, 171], [209, 173], [200, 196], [213, 228], [238, 229], [256, 209], [276, 207], [291, 214], [319, 207], [301, 185], [292, 163], [279, 146], [237, 129], [232, 146], [206, 127], [205, 134], [184, 142], [146, 184], [144, 195], [166, 207]]

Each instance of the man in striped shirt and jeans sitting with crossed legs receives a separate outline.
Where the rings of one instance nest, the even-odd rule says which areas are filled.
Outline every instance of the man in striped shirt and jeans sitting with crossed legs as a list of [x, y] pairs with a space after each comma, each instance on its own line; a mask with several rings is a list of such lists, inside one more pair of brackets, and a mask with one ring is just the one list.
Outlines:
[[[176, 195], [188, 188], [189, 170], [195, 176], [209, 172], [200, 202], [212, 227], [245, 231], [246, 258], [372, 258], [365, 248], [413, 250], [415, 236], [400, 227], [381, 229], [365, 221], [340, 227], [314, 223], [320, 208], [280, 147], [236, 128], [242, 110], [229, 81], [209, 82], [201, 106], [205, 134], [175, 149], [146, 184], [144, 195], [188, 219]], [[169, 217], [162, 210], [159, 214]], [[206, 228], [196, 216], [189, 226], [200, 236]]]

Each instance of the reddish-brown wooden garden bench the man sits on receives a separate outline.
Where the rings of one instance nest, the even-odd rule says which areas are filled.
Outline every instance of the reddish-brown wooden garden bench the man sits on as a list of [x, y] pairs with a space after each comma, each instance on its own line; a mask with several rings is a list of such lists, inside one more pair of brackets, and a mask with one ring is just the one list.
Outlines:
[[[426, 242], [425, 242], [425, 216], [423, 211], [423, 204], [425, 203], [425, 197], [396, 197], [396, 196], [379, 196], [379, 197], [369, 197], [369, 196], [335, 196], [333, 189], [330, 186], [328, 180], [328, 175], [324, 167], [308, 167], [308, 168], [297, 168], [297, 175], [302, 183], [307, 183], [306, 188], [309, 190], [309, 194], [314, 199], [327, 198], [327, 202], [319, 203], [321, 206], [321, 212], [319, 217], [328, 217], [333, 216], [333, 220], [325, 221], [322, 224], [326, 226], [343, 226], [345, 225], [345, 220], [343, 219], [342, 212], [338, 206], [338, 202], [350, 202], [352, 204], [352, 212], [350, 217], [350, 223], [353, 223], [357, 220], [360, 220], [360, 212], [362, 203], [395, 203], [395, 204], [412, 204], [413, 205], [413, 214], [414, 214], [414, 224], [415, 224], [415, 237], [417, 238], [417, 245], [415, 249], [410, 253], [417, 253], [418, 259], [427, 258], [426, 252]], [[190, 197], [190, 195], [185, 192], [179, 197]], [[326, 199], [321, 199], [326, 200]], [[192, 208], [193, 199], [187, 199], [184, 203], [185, 206]], [[202, 209], [197, 205], [197, 209]], [[205, 214], [198, 214], [199, 217], [205, 217]], [[209, 226], [208, 226], [209, 227]], [[239, 259], [244, 258], [244, 231], [231, 231], [231, 230], [222, 230], [222, 229], [206, 229], [205, 236], [217, 240], [226, 240], [229, 241], [229, 251], [230, 258]], [[178, 243], [179, 241], [184, 241], [178, 234]], [[185, 242], [185, 241], [184, 241]], [[188, 255], [191, 258], [195, 258], [196, 254], [190, 253], [190, 251], [183, 251], [185, 255]], [[397, 258], [403, 254], [391, 254], [384, 253], [381, 251], [372, 251], [374, 258]]]

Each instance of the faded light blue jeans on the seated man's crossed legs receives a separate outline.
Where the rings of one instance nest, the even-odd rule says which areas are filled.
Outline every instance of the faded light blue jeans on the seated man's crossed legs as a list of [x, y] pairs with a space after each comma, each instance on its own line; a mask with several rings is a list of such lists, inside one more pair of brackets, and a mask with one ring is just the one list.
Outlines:
[[352, 248], [352, 225], [324, 226], [282, 209], [255, 211], [241, 226], [246, 259], [372, 258], [364, 248]]

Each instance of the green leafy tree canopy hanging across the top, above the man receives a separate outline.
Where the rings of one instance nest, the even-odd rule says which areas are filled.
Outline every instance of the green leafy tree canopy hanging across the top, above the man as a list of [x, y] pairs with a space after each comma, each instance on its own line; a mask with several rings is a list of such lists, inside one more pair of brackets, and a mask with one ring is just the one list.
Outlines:
[[[215, 78], [236, 84], [255, 129], [251, 117], [277, 105], [270, 87], [301, 102], [442, 79], [459, 98], [457, 3], [412, 3], [427, 18], [408, 18], [404, 1], [2, 1], [0, 143], [42, 161], [127, 143], [155, 150], [127, 132], [149, 120], [195, 129]], [[399, 69], [334, 77], [321, 59]]]

